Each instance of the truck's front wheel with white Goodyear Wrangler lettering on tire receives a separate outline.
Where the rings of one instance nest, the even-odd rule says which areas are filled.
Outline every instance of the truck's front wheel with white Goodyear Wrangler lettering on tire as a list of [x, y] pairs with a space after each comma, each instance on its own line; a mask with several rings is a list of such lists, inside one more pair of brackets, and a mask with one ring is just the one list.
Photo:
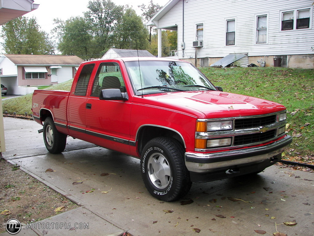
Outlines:
[[142, 177], [149, 193], [163, 201], [175, 201], [191, 188], [184, 163], [184, 148], [173, 138], [153, 138], [144, 147]]

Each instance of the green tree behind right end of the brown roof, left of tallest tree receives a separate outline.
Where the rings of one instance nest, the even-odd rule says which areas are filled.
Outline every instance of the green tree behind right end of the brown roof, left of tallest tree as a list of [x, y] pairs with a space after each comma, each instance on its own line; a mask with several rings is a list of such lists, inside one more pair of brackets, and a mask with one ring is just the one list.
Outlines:
[[59, 37], [58, 50], [64, 55], [77, 55], [82, 59], [93, 58], [95, 46], [92, 45], [91, 25], [83, 18], [70, 18], [66, 21], [54, 20], [54, 29]]

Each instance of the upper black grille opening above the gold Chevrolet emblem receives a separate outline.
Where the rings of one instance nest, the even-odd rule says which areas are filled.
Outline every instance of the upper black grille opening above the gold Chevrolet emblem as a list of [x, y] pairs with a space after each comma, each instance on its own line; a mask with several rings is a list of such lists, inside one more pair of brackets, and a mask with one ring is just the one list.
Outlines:
[[252, 128], [259, 126], [266, 126], [276, 122], [276, 115], [264, 116], [264, 117], [255, 117], [255, 118], [244, 118], [235, 120], [235, 128]]

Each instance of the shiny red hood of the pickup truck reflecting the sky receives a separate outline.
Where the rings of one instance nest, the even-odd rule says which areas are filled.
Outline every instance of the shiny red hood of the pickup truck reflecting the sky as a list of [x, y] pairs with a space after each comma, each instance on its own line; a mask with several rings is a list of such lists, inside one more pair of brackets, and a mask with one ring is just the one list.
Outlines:
[[275, 102], [220, 91], [159, 93], [145, 98], [152, 106], [191, 113], [199, 119], [263, 115], [285, 110], [283, 105]]

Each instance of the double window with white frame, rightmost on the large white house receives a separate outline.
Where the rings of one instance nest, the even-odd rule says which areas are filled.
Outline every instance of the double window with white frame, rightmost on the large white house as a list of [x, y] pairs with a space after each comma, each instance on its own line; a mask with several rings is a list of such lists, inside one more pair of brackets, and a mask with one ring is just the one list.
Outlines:
[[281, 31], [310, 28], [311, 12], [312, 8], [281, 11]]

